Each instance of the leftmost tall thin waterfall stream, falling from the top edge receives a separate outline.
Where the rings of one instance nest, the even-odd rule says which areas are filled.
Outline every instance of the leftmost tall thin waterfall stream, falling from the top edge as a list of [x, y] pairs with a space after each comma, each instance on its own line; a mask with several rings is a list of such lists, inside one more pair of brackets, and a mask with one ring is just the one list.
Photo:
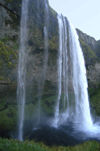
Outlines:
[[20, 25], [20, 49], [18, 62], [18, 86], [17, 86], [17, 101], [18, 101], [18, 139], [23, 140], [24, 126], [24, 108], [26, 101], [26, 58], [27, 58], [27, 38], [28, 38], [28, 2], [22, 1], [22, 14]]

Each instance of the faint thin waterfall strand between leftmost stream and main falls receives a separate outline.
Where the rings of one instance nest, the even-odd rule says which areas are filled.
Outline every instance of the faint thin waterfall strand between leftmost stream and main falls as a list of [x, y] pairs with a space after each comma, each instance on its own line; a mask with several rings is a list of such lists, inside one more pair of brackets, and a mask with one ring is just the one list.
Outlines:
[[49, 5], [48, 1], [44, 0], [44, 56], [43, 56], [43, 69], [41, 73], [41, 78], [39, 82], [39, 108], [38, 108], [38, 124], [40, 124], [41, 119], [41, 98], [43, 94], [46, 72], [48, 67], [48, 27], [49, 27]]

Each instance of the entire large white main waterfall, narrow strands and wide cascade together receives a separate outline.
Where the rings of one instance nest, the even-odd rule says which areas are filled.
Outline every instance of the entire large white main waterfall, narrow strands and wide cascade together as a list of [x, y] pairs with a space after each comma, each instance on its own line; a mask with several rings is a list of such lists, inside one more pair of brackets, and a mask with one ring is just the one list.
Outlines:
[[[86, 68], [78, 35], [62, 15], [58, 16], [58, 25], [58, 97], [52, 125], [57, 128], [70, 121], [76, 130], [97, 132], [98, 126], [93, 124], [90, 113]], [[60, 111], [62, 96], [63, 112]]]

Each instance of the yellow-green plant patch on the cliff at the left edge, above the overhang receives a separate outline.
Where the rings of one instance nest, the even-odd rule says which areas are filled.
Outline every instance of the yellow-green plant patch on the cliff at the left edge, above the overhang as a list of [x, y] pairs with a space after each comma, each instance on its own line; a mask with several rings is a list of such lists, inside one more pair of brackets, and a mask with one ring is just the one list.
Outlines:
[[17, 52], [15, 46], [6, 45], [3, 40], [0, 41], [0, 79], [7, 80], [10, 71], [16, 67]]

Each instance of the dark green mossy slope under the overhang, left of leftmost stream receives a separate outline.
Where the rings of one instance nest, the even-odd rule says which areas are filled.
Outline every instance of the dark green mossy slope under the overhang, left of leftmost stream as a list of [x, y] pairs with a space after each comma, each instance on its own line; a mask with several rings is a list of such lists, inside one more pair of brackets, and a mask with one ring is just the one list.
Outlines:
[[16, 89], [0, 90], [0, 136], [8, 137], [17, 126]]

